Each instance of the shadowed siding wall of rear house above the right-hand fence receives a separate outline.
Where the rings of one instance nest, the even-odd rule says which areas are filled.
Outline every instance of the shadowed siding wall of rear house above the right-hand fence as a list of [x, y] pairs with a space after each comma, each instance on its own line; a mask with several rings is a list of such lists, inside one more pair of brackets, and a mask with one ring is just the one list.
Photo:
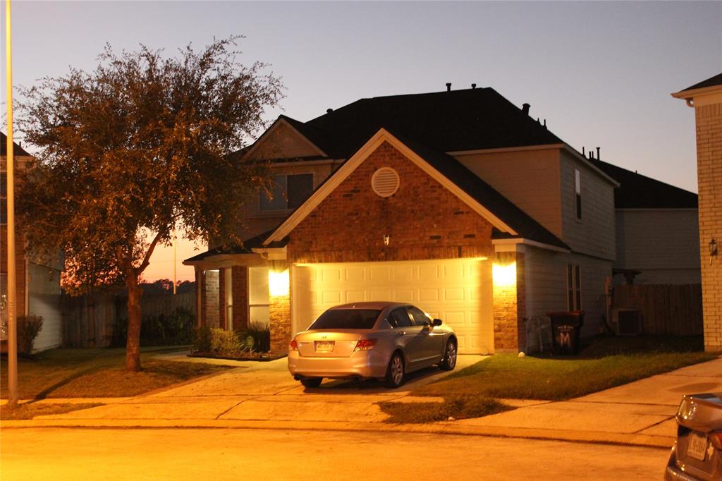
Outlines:
[[614, 267], [641, 271], [635, 284], [701, 282], [697, 209], [617, 209], [616, 218]]

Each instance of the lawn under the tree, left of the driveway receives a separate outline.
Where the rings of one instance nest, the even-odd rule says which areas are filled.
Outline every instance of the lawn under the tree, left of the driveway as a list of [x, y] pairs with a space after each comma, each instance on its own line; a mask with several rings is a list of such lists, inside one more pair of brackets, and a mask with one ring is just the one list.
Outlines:
[[[125, 370], [124, 349], [55, 349], [18, 359], [20, 399], [126, 397], [223, 371], [227, 366], [155, 360], [168, 348], [144, 348], [142, 371]], [[173, 349], [175, 350], [175, 349]], [[7, 360], [0, 363], [0, 397], [7, 398]]]

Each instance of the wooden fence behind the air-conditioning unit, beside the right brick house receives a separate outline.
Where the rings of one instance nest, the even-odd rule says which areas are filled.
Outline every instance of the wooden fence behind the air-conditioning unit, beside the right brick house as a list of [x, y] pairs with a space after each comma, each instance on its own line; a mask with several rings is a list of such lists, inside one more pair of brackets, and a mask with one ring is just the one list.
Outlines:
[[700, 284], [615, 286], [612, 308], [639, 309], [644, 334], [703, 334]]

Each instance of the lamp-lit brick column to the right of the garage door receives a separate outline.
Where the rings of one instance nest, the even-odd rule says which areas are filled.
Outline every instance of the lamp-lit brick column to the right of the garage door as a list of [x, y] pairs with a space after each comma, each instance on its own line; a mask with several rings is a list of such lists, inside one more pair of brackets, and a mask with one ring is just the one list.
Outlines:
[[493, 272], [494, 349], [518, 352], [526, 345], [526, 291], [524, 288], [524, 254], [498, 252]]

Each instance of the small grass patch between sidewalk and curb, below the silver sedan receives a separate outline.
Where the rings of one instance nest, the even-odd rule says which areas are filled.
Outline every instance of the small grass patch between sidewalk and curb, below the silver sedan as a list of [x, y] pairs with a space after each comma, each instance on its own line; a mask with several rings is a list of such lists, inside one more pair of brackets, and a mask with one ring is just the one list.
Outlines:
[[433, 423], [449, 418], [483, 417], [514, 409], [496, 399], [469, 394], [447, 394], [444, 402], [380, 402], [390, 415], [385, 423]]

